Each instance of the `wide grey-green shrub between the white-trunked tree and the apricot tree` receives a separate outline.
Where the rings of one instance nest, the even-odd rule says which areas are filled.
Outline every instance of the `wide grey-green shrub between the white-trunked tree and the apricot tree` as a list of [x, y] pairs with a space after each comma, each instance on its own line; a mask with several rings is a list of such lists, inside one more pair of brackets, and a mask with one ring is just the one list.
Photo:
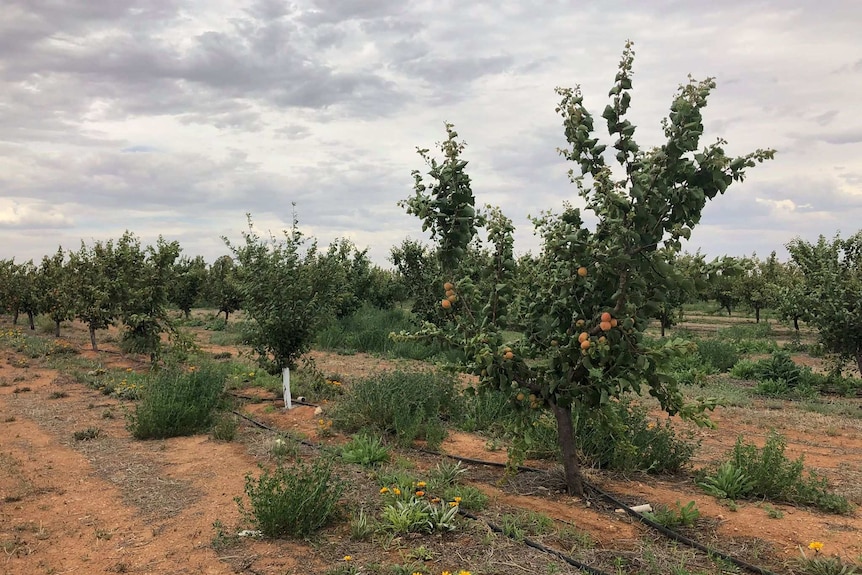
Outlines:
[[394, 371], [353, 383], [332, 413], [349, 432], [363, 428], [392, 434], [400, 445], [426, 439], [432, 449], [444, 437], [443, 422], [457, 416], [463, 400], [451, 375]]

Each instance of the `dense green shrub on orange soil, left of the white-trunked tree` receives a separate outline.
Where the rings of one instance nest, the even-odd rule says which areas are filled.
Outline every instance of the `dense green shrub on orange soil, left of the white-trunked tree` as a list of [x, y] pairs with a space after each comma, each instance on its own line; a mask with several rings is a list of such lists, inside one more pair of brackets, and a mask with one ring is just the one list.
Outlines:
[[191, 372], [178, 368], [154, 372], [128, 416], [128, 428], [137, 439], [204, 431], [212, 424], [224, 382], [225, 372], [217, 364], [204, 364]]

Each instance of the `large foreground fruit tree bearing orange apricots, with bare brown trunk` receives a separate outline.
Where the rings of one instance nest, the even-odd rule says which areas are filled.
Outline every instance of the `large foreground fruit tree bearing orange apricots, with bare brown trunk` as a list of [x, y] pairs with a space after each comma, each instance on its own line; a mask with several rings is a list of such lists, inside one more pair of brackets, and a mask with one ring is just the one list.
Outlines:
[[[436, 338], [463, 348], [465, 370], [477, 375], [480, 389], [496, 388], [523, 410], [548, 409], [555, 416], [568, 491], [583, 494], [572, 424], [573, 408], [597, 410], [626, 392], [642, 389], [670, 414], [706, 422], [709, 402], [686, 405], [679, 387], [662, 366], [689, 349], [682, 340], [648, 345], [649, 319], [682, 278], [667, 263], [700, 221], [707, 200], [743, 179], [746, 169], [772, 158], [772, 150], [728, 157], [723, 140], [699, 147], [702, 111], [713, 79], [681, 86], [662, 126], [666, 141], [643, 150], [635, 126], [625, 119], [631, 103], [634, 52], [627, 43], [602, 118], [614, 143], [609, 149], [594, 136], [594, 118], [579, 88], [558, 88], [568, 146], [559, 150], [574, 162], [572, 182], [597, 223], [585, 225], [581, 210], [565, 204], [559, 214], [534, 218], [543, 241], [526, 325], [518, 342], [506, 345], [502, 329], [513, 294], [515, 261], [511, 221], [499, 210], [477, 213], [464, 144], [449, 124], [440, 145], [442, 161], [419, 150], [430, 170], [414, 172], [414, 194], [402, 202], [419, 217], [436, 242], [444, 277], [442, 314], [450, 321], [403, 337]], [[608, 161], [615, 159], [619, 168]], [[477, 301], [473, 281], [461, 262], [478, 229], [494, 246], [489, 260], [493, 289]], [[445, 283], [443, 283], [445, 282]], [[444, 295], [445, 294], [445, 295]], [[712, 403], [714, 405], [714, 402]]]

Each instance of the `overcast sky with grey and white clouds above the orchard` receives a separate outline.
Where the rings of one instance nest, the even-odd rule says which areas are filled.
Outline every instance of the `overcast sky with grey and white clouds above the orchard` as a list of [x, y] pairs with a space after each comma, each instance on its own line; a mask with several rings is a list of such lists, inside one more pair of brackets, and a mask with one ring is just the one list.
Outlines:
[[577, 201], [554, 87], [600, 114], [626, 39], [642, 148], [692, 74], [718, 83], [704, 143], [778, 150], [687, 249], [783, 255], [862, 228], [860, 22], [856, 0], [2, 0], [0, 259], [130, 230], [212, 261], [295, 202], [385, 264], [423, 238], [397, 202], [445, 121], [535, 251], [527, 216]]

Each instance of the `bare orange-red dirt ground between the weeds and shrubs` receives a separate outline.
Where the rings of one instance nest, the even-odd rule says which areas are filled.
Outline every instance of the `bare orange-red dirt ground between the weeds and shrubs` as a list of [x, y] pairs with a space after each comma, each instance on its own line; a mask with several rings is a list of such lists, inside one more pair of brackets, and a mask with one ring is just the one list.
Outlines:
[[[8, 321], [0, 320], [7, 329]], [[70, 330], [72, 331], [72, 330]], [[94, 354], [80, 335], [67, 336], [83, 357], [103, 365], [141, 369], [110, 345]], [[206, 346], [205, 346], [206, 347]], [[226, 349], [230, 349], [229, 347]], [[215, 350], [218, 351], [218, 350]], [[391, 369], [395, 364], [361, 354], [315, 352], [317, 366], [346, 381]], [[403, 364], [401, 364], [403, 365]], [[219, 525], [240, 520], [234, 497], [246, 473], [257, 469], [267, 432], [251, 425], [242, 440], [218, 442], [208, 436], [135, 441], [125, 428], [123, 404], [75, 382], [63, 373], [30, 365], [0, 348], [0, 573], [228, 574], [323, 573], [331, 567], [313, 549], [290, 541], [249, 541], [240, 552], [214, 545]], [[289, 412], [247, 406], [248, 413], [278, 429], [318, 438], [313, 407]], [[862, 402], [856, 404], [862, 409]], [[737, 436], [760, 445], [771, 428], [787, 437], [788, 455], [805, 455], [806, 465], [825, 475], [839, 493], [862, 502], [862, 419], [785, 409], [781, 402], [722, 408], [716, 429], [697, 429], [702, 442], [695, 466], [726, 453]], [[98, 436], [76, 440], [74, 432], [98, 428]], [[505, 462], [505, 451], [489, 451], [487, 440], [454, 432], [444, 441], [449, 454]], [[531, 462], [535, 465], [547, 463]], [[502, 470], [489, 468], [489, 477]], [[731, 510], [706, 496], [688, 478], [621, 477], [588, 471], [602, 489], [630, 504], [674, 506], [696, 501], [710, 528], [704, 543], [770, 565], [798, 556], [811, 541], [847, 560], [862, 558], [862, 514], [838, 516], [789, 505], [740, 503]], [[541, 511], [589, 532], [600, 548], [635, 548], [644, 528], [606, 505], [567, 497], [554, 489], [531, 494], [498, 482], [478, 481], [492, 502]], [[513, 482], [512, 485], [516, 485]], [[588, 505], [589, 503], [589, 505]], [[778, 517], [780, 518], [771, 518]], [[522, 572], [502, 568], [501, 573]]]

